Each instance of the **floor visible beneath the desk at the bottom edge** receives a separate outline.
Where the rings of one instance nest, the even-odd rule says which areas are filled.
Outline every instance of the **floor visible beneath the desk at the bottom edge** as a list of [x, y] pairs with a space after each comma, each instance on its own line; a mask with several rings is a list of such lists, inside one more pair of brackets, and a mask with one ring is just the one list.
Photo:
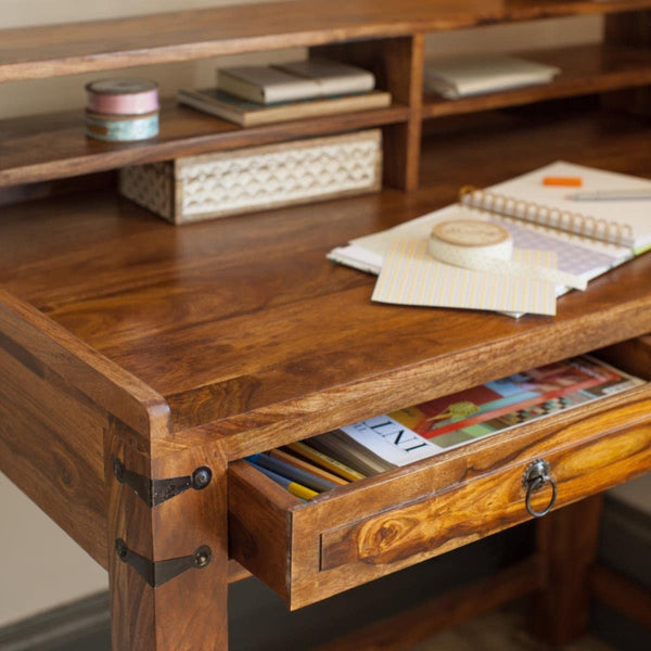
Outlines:
[[[409, 651], [548, 651], [549, 647], [532, 639], [524, 616], [512, 610], [495, 611], [457, 628], [445, 630]], [[613, 651], [604, 642], [585, 636], [563, 647], [563, 651]]]

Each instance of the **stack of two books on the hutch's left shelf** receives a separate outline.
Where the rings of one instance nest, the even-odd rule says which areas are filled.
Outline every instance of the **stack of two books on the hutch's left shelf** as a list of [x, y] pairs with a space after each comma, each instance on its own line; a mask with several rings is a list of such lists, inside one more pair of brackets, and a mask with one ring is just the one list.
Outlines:
[[177, 100], [242, 126], [381, 108], [391, 93], [372, 73], [328, 59], [217, 71], [217, 87], [179, 90]]

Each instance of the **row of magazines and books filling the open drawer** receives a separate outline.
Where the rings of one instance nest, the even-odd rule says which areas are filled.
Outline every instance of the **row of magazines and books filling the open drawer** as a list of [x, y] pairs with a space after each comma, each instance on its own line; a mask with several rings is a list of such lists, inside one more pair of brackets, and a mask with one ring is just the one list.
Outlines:
[[643, 384], [589, 356], [550, 363], [254, 455], [301, 499]]

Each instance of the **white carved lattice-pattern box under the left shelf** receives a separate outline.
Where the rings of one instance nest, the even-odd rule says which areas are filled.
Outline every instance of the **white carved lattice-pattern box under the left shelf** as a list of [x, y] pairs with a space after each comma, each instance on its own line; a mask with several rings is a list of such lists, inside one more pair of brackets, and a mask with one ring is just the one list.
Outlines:
[[120, 169], [124, 196], [174, 224], [379, 190], [380, 129]]

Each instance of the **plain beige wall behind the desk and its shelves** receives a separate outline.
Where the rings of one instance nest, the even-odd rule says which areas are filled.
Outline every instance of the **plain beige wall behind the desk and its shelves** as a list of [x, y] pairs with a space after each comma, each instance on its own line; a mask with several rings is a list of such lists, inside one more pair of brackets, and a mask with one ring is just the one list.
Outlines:
[[[17, 27], [232, 4], [234, 1], [2, 0], [0, 15], [2, 27]], [[599, 39], [600, 25], [599, 18], [590, 17], [464, 30], [432, 37], [429, 50], [436, 53], [503, 51], [595, 41]], [[295, 55], [295, 52], [276, 55]], [[264, 60], [265, 55], [253, 59]], [[209, 86], [215, 64], [215, 61], [204, 61], [132, 68], [128, 75], [154, 78], [159, 81], [164, 94], [173, 94], [181, 86]], [[80, 108], [84, 84], [95, 77], [80, 75], [7, 84], [0, 87], [0, 117]], [[3, 475], [0, 475], [0, 626], [107, 585], [105, 573]]]

